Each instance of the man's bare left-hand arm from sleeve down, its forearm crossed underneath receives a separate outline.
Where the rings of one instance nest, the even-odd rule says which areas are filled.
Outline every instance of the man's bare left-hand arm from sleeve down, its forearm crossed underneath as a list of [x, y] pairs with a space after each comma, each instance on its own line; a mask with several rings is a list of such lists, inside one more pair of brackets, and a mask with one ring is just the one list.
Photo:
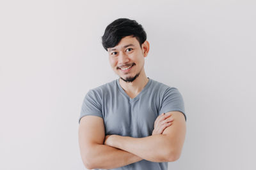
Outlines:
[[103, 145], [105, 139], [102, 118], [86, 116], [79, 125], [79, 146], [84, 166], [88, 169], [113, 169], [142, 160], [140, 157]]

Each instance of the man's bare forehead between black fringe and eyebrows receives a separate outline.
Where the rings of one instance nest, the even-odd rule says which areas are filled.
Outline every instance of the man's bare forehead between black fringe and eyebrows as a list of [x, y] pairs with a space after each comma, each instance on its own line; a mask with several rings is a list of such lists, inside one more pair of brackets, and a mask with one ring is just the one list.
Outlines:
[[124, 38], [121, 39], [121, 41], [118, 43], [118, 45], [108, 48], [108, 51], [113, 51], [113, 50], [122, 50], [123, 48], [127, 48], [128, 46], [140, 46], [140, 43], [136, 37], [132, 36], [125, 36]]

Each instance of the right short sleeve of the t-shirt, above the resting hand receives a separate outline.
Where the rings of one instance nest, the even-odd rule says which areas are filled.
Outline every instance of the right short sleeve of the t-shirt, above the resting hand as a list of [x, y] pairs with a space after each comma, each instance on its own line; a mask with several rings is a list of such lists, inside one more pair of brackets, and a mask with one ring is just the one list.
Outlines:
[[169, 111], [180, 111], [183, 113], [185, 120], [187, 120], [183, 98], [179, 90], [175, 87], [168, 87], [165, 91], [159, 114], [167, 113]]

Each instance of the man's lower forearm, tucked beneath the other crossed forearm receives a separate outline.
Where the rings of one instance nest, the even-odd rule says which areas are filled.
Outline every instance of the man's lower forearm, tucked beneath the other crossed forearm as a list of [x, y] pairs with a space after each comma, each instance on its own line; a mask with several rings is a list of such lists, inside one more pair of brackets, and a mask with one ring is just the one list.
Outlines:
[[142, 160], [137, 155], [108, 145], [92, 145], [84, 155], [84, 164], [89, 169], [113, 169]]

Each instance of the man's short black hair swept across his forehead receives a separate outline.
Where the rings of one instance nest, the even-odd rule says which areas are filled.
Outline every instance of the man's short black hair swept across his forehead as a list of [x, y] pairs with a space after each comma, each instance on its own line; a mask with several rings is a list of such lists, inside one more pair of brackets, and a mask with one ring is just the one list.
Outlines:
[[105, 50], [112, 48], [121, 41], [125, 36], [133, 36], [138, 39], [140, 46], [146, 41], [147, 34], [141, 24], [136, 20], [128, 18], [118, 18], [109, 24], [102, 36], [102, 45]]

